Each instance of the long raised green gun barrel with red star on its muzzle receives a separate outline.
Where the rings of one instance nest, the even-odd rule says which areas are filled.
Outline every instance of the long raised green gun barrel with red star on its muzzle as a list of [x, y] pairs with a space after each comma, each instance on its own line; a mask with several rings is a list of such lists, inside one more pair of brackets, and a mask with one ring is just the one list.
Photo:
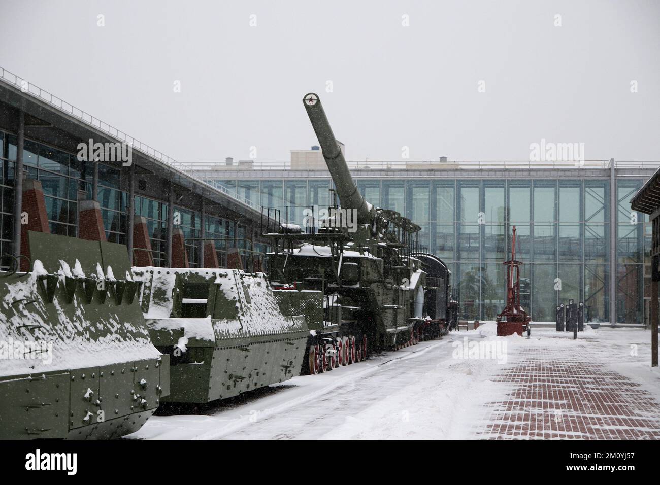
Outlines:
[[312, 122], [319, 145], [321, 145], [325, 164], [328, 166], [330, 175], [335, 182], [335, 187], [337, 187], [341, 207], [343, 209], [356, 209], [358, 211], [358, 222], [370, 224], [374, 219], [374, 207], [360, 195], [358, 186], [350, 176], [344, 154], [341, 152], [339, 143], [337, 143], [330, 123], [325, 116], [319, 96], [314, 92], [310, 92], [305, 95], [302, 102]]

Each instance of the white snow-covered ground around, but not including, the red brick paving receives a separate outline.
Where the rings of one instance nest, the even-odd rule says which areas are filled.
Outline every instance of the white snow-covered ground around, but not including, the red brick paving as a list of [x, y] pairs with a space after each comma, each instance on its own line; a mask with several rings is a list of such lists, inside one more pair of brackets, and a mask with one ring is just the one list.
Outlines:
[[552, 329], [535, 329], [529, 340], [494, 334], [489, 323], [367, 362], [295, 377], [240, 404], [210, 406], [203, 415], [152, 416], [130, 437], [472, 438], [484, 425], [484, 405], [512, 389], [494, 377], [529, 346], [550, 346], [558, 355], [567, 346], [597, 349], [603, 366], [640, 383], [660, 401], [660, 373], [650, 368], [648, 331], [587, 328], [576, 341]]

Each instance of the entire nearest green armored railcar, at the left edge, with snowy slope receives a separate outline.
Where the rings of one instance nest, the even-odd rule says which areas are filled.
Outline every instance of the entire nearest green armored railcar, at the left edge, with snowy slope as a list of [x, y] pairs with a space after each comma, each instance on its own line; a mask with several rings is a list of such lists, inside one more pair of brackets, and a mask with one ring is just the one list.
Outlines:
[[135, 432], [168, 394], [126, 247], [28, 232], [28, 273], [0, 272], [0, 439]]

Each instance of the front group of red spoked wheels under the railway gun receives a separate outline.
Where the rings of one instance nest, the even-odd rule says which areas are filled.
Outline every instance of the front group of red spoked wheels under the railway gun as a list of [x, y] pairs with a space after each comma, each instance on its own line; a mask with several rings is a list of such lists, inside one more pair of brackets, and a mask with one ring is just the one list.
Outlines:
[[362, 362], [367, 358], [367, 336], [356, 339], [354, 335], [347, 337], [326, 337], [317, 344], [310, 346], [310, 374], [329, 372], [339, 366], [348, 366]]

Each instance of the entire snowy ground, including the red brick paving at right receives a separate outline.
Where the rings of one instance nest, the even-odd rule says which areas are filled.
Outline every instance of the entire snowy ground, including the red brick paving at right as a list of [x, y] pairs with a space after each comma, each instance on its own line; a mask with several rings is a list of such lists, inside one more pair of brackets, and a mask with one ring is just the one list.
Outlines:
[[[248, 393], [240, 403], [213, 404], [204, 415], [153, 416], [130, 437], [602, 438], [660, 433], [660, 374], [649, 368], [648, 331], [589, 329], [576, 341], [550, 329], [536, 329], [529, 340], [493, 334], [494, 324], [482, 325], [367, 362], [295, 377]], [[578, 387], [566, 399], [562, 379], [567, 366], [582, 373], [587, 360], [589, 377], [574, 378]], [[589, 388], [591, 375], [601, 374], [603, 380]], [[614, 397], [626, 397], [623, 411], [599, 404], [611, 396], [601, 388], [612, 379], [623, 385]], [[622, 422], [615, 416], [630, 419]], [[574, 425], [592, 420], [593, 426]], [[551, 429], [554, 434], [547, 433]]]

